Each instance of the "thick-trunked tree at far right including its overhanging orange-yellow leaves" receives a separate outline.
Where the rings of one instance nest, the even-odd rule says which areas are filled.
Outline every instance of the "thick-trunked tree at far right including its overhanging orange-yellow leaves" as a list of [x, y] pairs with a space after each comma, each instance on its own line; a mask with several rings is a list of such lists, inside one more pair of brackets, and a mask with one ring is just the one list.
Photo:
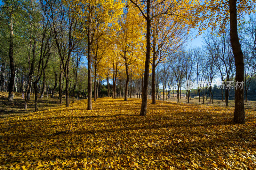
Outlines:
[[[237, 1], [237, 0], [211, 0], [205, 1], [196, 13], [203, 11], [201, 14], [200, 31], [205, 30], [207, 26], [211, 26], [215, 30], [220, 24], [220, 31], [224, 31], [226, 23], [230, 21], [230, 42], [234, 54], [236, 66], [236, 82], [243, 82], [244, 80], [244, 56], [239, 43], [237, 32], [237, 20], [239, 21], [243, 14], [254, 11], [252, 8], [255, 0]], [[238, 7], [238, 9], [237, 9]], [[238, 19], [237, 19], [238, 13]], [[214, 22], [215, 21], [215, 22]], [[244, 113], [244, 88], [235, 89], [235, 111], [233, 121], [236, 123], [245, 123]]]

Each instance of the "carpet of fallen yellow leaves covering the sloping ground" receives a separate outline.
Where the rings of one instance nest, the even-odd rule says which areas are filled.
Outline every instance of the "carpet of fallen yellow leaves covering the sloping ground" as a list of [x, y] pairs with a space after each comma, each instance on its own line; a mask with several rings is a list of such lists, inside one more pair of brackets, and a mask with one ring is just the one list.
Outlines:
[[0, 169], [256, 169], [256, 111], [99, 98], [0, 120]]

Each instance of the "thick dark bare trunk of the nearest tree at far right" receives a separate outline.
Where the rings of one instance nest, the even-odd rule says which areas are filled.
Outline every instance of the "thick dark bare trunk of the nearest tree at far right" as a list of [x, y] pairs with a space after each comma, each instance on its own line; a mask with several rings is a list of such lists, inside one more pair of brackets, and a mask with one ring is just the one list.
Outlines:
[[[229, 0], [230, 13], [230, 42], [234, 53], [236, 66], [236, 82], [244, 80], [244, 57], [239, 43], [237, 34], [237, 14], [236, 0]], [[238, 87], [235, 89], [235, 112], [233, 121], [236, 123], [245, 123], [244, 113], [244, 88]]]

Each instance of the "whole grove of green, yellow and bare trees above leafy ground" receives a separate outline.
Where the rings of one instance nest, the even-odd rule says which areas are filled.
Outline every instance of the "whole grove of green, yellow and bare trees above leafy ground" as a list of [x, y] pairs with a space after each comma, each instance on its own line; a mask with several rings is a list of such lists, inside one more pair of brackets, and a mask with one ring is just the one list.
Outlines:
[[[160, 89], [162, 100], [173, 100], [175, 92], [177, 102], [186, 89], [189, 103], [193, 86], [199, 102], [213, 103], [218, 80], [226, 106], [235, 91], [233, 121], [245, 123], [244, 95], [247, 102], [256, 90], [253, 4], [3, 0], [0, 90], [10, 102], [13, 92], [22, 93], [25, 109], [33, 93], [35, 111], [40, 99], [55, 93], [60, 103], [65, 96], [66, 107], [71, 97], [87, 99], [87, 110], [92, 98], [141, 98], [140, 115], [146, 116], [147, 100], [156, 104]], [[186, 45], [193, 28], [203, 34], [203, 47]]]

